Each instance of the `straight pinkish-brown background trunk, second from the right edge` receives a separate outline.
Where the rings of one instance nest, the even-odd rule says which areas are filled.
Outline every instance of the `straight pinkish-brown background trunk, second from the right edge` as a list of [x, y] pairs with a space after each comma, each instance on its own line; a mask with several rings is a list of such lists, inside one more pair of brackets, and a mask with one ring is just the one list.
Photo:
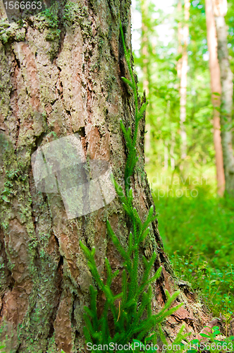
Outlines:
[[221, 129], [220, 129], [220, 108], [221, 97], [221, 77], [220, 68], [218, 65], [217, 54], [217, 37], [214, 21], [214, 13], [212, 8], [212, 0], [206, 0], [206, 19], [207, 19], [207, 44], [209, 50], [209, 71], [211, 73], [211, 99], [214, 107], [214, 150], [216, 154], [216, 179], [218, 186], [218, 195], [223, 196], [225, 191], [225, 176], [223, 169], [223, 151], [221, 144]]

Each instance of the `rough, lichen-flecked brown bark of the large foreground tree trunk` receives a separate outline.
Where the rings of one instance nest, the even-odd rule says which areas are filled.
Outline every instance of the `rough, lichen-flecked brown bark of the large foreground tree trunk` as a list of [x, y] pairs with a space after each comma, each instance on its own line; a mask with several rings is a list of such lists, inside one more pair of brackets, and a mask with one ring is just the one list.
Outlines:
[[[121, 80], [129, 76], [119, 23], [121, 18], [130, 47], [130, 0], [61, 0], [54, 11], [54, 17], [47, 13], [18, 24], [1, 21], [0, 304], [7, 352], [85, 352], [82, 316], [92, 276], [79, 241], [95, 246], [101, 273], [105, 256], [112, 268], [122, 268], [106, 236], [106, 217], [123, 244], [128, 235], [118, 198], [68, 220], [61, 196], [35, 188], [30, 159], [40, 145], [79, 133], [86, 157], [109, 161], [124, 186], [119, 120], [133, 125], [133, 97]], [[144, 172], [144, 121], [137, 150], [132, 185], [135, 207], [144, 218], [153, 204]], [[149, 257], [153, 249], [159, 255], [155, 270], [164, 268], [153, 288], [154, 310], [164, 304], [165, 288], [174, 292], [180, 287], [184, 309], [168, 318], [165, 330], [173, 337], [184, 321], [187, 331], [196, 332], [209, 318], [187, 283], [173, 276], [157, 222], [142, 252]], [[101, 308], [101, 295], [99, 301]]]

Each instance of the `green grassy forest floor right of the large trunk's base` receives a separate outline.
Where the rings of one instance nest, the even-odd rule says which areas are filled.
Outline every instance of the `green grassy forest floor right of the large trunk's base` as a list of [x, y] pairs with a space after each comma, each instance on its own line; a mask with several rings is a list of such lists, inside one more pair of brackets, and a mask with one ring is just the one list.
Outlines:
[[233, 200], [216, 196], [213, 169], [182, 177], [181, 171], [156, 172], [148, 164], [147, 174], [159, 232], [177, 275], [228, 324], [234, 316]]

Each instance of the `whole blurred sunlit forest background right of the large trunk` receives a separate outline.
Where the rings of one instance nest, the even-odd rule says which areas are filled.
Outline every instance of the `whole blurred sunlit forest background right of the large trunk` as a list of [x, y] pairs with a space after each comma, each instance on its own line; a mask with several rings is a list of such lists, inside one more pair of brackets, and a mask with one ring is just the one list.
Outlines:
[[234, 316], [234, 2], [135, 0], [132, 23], [135, 71], [149, 100], [146, 170], [159, 231], [176, 273], [228, 324]]

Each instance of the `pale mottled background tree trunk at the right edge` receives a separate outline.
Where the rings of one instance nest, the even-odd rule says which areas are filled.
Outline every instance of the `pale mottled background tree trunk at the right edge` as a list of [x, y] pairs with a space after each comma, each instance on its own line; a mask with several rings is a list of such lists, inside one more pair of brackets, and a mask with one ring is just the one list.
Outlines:
[[227, 29], [224, 16], [226, 0], [213, 0], [214, 18], [218, 40], [218, 63], [221, 71], [221, 140], [226, 191], [234, 196], [234, 153], [233, 153], [233, 73], [228, 58]]

